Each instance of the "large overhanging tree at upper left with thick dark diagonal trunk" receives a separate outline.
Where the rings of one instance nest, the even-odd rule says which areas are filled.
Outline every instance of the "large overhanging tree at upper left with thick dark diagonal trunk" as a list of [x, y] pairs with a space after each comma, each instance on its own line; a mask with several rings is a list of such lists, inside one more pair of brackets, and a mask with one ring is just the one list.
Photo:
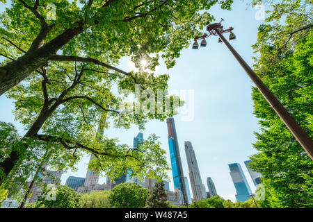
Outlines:
[[[203, 10], [216, 3], [230, 9], [232, 0], [11, 3], [0, 17], [0, 54], [6, 58], [0, 67], [0, 95], [52, 61], [92, 62], [127, 75], [113, 67], [122, 56], [162, 52], [172, 67], [188, 41], [212, 21]], [[152, 61], [156, 65], [158, 56]]]

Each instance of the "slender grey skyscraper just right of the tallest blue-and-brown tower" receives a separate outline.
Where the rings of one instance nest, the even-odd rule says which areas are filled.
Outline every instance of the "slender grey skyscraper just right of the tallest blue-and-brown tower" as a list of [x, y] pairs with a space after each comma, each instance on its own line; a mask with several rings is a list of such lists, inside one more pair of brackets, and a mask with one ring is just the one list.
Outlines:
[[198, 162], [195, 157], [195, 151], [191, 142], [185, 142], [185, 152], [189, 169], [189, 179], [191, 182], [191, 189], [193, 191], [193, 200], [202, 200], [207, 197], [204, 185], [202, 184]]

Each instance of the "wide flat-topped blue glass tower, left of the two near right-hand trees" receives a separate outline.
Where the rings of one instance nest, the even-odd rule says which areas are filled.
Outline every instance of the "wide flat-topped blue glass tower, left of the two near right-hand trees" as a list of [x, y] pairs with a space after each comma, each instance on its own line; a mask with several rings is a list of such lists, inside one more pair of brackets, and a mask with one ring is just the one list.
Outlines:
[[246, 176], [243, 174], [239, 163], [228, 164], [228, 167], [230, 167], [230, 176], [232, 177], [232, 182], [234, 182], [234, 187], [237, 192], [236, 200], [245, 202], [250, 198], [249, 195], [252, 194]]

